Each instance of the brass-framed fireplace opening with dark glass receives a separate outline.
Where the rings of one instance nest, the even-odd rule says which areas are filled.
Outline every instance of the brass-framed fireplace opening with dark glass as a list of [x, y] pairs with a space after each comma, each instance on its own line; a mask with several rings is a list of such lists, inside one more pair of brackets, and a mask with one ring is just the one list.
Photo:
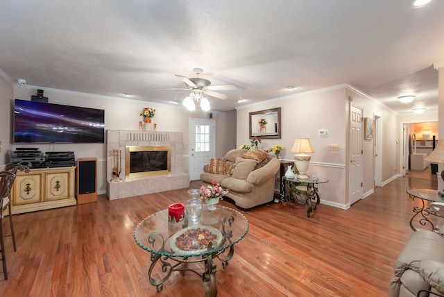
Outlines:
[[125, 178], [171, 173], [170, 146], [126, 146]]

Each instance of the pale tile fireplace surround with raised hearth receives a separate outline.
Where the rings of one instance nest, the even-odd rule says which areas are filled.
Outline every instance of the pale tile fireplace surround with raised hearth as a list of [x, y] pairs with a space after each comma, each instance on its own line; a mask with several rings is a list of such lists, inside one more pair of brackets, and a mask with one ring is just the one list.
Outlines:
[[[171, 146], [171, 171], [159, 176], [125, 178], [126, 146]], [[113, 183], [113, 150], [121, 150], [121, 182]], [[189, 174], [183, 172], [183, 135], [176, 132], [107, 130], [107, 195], [110, 200], [189, 187]]]

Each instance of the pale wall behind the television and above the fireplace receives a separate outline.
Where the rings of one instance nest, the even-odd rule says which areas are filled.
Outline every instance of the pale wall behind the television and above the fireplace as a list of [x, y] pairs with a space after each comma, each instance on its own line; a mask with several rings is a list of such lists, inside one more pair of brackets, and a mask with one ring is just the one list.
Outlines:
[[[38, 147], [40, 151], [74, 151], [76, 159], [78, 158], [97, 158], [97, 171], [98, 171], [98, 192], [99, 194], [105, 194], [106, 191], [106, 159], [111, 152], [106, 151], [106, 144], [12, 144], [12, 106], [13, 99], [30, 100], [31, 96], [35, 94], [36, 89], [31, 87], [8, 87], [8, 83], [2, 85], [4, 82], [0, 78], [0, 91], [3, 97], [0, 97], [0, 104], [5, 108], [0, 108], [0, 114], [2, 117], [0, 122], [3, 126], [0, 134], [0, 140], [8, 144], [6, 145], [10, 151], [14, 151], [17, 147]], [[9, 85], [10, 86], [10, 85]], [[3, 92], [10, 88], [10, 94]], [[39, 87], [44, 90], [44, 96], [49, 98], [49, 103], [57, 103], [63, 105], [82, 106], [87, 108], [100, 108], [105, 110], [105, 130], [138, 130], [139, 129], [139, 112], [142, 108], [150, 106], [155, 108], [156, 114], [153, 118], [153, 123], [157, 124], [158, 131], [168, 132], [182, 132], [184, 139], [184, 165], [185, 171], [188, 170], [188, 142], [189, 142], [189, 130], [188, 119], [190, 117], [207, 119], [209, 112], [203, 112], [201, 110], [195, 110], [189, 112], [181, 105], [167, 105], [160, 103], [152, 103], [147, 101], [137, 101], [132, 99], [121, 99], [106, 96], [97, 96], [93, 94], [83, 94], [76, 92], [68, 92], [63, 90], [47, 90], [44, 87]], [[13, 90], [13, 94], [12, 94]], [[7, 107], [7, 108], [6, 108]], [[216, 121], [216, 129], [224, 129], [224, 139], [216, 137], [216, 148], [222, 147], [225, 151], [225, 146], [232, 146], [234, 144], [236, 127], [233, 126], [235, 119], [235, 112], [213, 113], [214, 120]], [[4, 117], [3, 117], [4, 116]], [[6, 139], [6, 140], [5, 140]], [[231, 145], [230, 145], [231, 143]], [[10, 153], [10, 152], [9, 152]], [[5, 164], [9, 159], [7, 150], [3, 149], [1, 152], [2, 161], [0, 164]], [[6, 161], [5, 161], [6, 160]]]

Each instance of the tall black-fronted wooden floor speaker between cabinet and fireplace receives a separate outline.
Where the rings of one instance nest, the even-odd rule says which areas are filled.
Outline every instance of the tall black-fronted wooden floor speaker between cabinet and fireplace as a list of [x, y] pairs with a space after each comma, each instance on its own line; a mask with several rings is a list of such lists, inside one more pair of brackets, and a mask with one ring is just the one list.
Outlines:
[[77, 204], [97, 201], [97, 159], [81, 158], [76, 168]]

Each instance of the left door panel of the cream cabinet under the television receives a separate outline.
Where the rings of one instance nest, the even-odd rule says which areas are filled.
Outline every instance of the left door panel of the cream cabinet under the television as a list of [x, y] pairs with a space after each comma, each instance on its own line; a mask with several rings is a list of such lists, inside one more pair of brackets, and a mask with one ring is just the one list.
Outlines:
[[24, 205], [42, 202], [41, 175], [28, 173], [15, 178], [12, 205]]

